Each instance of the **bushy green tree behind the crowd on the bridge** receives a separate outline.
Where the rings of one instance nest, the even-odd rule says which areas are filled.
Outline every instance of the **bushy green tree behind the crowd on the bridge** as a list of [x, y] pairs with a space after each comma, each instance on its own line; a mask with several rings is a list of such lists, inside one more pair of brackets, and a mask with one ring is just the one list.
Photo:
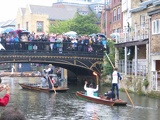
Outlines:
[[98, 19], [92, 13], [90, 15], [75, 15], [73, 19], [66, 21], [55, 21], [50, 24], [49, 33], [64, 33], [68, 31], [75, 31], [78, 34], [92, 34], [98, 33], [100, 27], [97, 26]]

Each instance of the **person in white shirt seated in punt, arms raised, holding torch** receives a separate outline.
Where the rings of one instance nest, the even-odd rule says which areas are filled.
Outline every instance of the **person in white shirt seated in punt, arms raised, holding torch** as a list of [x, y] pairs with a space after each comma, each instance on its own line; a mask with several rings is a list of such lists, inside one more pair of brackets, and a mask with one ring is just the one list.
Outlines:
[[85, 81], [85, 85], [84, 85], [84, 90], [87, 91], [87, 96], [95, 97], [94, 92], [98, 91], [98, 85], [97, 85], [96, 89], [94, 89], [92, 84], [90, 84], [89, 87], [87, 87], [87, 83], [88, 82]]

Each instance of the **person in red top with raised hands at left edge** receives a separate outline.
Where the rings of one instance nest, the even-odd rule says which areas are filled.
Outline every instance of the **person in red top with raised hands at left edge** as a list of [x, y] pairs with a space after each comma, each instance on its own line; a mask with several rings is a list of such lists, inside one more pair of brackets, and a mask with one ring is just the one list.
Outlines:
[[10, 99], [10, 87], [9, 85], [2, 85], [0, 84], [0, 92], [6, 90], [6, 94], [0, 98], [0, 106], [6, 106]]

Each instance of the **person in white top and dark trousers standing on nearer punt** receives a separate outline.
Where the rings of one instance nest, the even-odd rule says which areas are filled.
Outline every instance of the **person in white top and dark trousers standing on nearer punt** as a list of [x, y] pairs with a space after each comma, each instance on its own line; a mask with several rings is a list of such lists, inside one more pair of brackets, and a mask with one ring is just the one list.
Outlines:
[[116, 87], [117, 99], [119, 99], [119, 88], [118, 88], [119, 80], [122, 80], [122, 77], [121, 77], [120, 73], [118, 72], [118, 68], [115, 67], [114, 71], [112, 73], [112, 100], [114, 98], [113, 94], [114, 94], [115, 87]]

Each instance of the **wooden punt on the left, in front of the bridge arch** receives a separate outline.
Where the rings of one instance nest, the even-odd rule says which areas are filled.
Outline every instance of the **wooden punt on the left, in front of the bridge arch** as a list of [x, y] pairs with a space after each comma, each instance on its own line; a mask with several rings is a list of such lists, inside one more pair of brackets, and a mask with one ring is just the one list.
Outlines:
[[[49, 89], [48, 87], [41, 87], [37, 83], [18, 83], [23, 89], [35, 90], [35, 91], [43, 91], [43, 92], [54, 92], [53, 89]], [[55, 87], [56, 92], [66, 92], [69, 88], [66, 87]]]

